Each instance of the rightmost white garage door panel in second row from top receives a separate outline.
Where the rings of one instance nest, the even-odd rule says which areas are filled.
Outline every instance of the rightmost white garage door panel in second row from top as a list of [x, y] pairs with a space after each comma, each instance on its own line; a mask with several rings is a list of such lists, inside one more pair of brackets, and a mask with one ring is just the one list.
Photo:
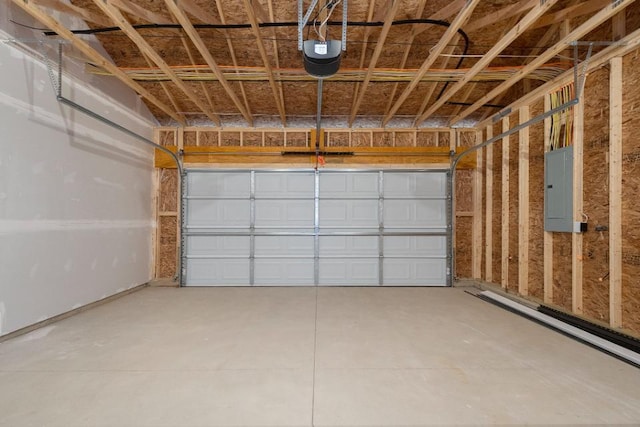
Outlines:
[[444, 200], [385, 199], [384, 225], [396, 229], [446, 229], [446, 212]]

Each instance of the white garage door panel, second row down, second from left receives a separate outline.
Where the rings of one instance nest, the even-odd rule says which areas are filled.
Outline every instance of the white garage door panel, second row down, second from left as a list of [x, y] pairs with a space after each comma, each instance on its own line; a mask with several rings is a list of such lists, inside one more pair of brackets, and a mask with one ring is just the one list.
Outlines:
[[313, 200], [256, 200], [256, 227], [313, 227]]

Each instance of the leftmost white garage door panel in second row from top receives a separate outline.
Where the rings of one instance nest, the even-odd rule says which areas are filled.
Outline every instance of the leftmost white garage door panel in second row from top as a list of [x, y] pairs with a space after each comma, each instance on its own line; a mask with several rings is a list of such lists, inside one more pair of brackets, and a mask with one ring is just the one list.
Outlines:
[[189, 200], [187, 226], [249, 228], [249, 200]]

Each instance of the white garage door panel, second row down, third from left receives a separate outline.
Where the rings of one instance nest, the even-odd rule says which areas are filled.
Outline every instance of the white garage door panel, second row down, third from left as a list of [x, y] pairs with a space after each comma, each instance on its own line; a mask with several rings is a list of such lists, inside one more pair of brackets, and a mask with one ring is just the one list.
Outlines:
[[377, 228], [377, 200], [320, 200], [320, 227]]

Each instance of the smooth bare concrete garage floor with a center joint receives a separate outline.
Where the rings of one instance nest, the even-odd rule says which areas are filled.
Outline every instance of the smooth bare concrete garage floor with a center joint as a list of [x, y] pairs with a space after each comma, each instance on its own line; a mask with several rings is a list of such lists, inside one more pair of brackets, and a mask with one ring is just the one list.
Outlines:
[[640, 369], [461, 289], [146, 288], [0, 344], [2, 426], [640, 425]]

